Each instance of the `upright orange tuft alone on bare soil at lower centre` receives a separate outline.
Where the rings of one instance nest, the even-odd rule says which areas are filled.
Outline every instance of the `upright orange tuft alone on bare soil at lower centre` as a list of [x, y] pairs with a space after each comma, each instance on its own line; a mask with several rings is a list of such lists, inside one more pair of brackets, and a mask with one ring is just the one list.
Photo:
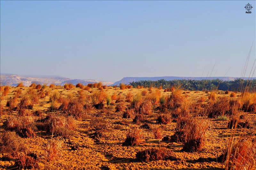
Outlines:
[[129, 128], [123, 146], [134, 146], [142, 143], [143, 132], [138, 127]]

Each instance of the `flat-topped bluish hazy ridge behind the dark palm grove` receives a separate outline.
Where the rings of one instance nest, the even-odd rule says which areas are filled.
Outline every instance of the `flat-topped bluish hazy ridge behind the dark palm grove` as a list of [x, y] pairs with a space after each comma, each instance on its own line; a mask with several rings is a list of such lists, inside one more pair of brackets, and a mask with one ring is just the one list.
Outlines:
[[[164, 79], [166, 81], [169, 81], [169, 80], [204, 80], [204, 79], [212, 80], [212, 79], [220, 79], [220, 80], [232, 81], [232, 80], [235, 80], [237, 78], [239, 78], [239, 77], [175, 77], [175, 76], [165, 76], [165, 77], [124, 77], [120, 81], [116, 81], [113, 85], [118, 85], [119, 83], [129, 84], [129, 82], [140, 81], [140, 80], [156, 81], [156, 80]], [[245, 77], [244, 79], [248, 79], [248, 77]], [[253, 79], [255, 79], [255, 77]]]

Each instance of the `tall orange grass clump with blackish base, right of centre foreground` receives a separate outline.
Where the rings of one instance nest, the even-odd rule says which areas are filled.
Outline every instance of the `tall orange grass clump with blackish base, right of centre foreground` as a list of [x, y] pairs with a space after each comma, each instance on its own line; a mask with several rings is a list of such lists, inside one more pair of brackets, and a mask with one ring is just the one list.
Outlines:
[[201, 151], [206, 140], [206, 132], [209, 122], [206, 120], [192, 120], [184, 126], [184, 146], [183, 151], [195, 152]]

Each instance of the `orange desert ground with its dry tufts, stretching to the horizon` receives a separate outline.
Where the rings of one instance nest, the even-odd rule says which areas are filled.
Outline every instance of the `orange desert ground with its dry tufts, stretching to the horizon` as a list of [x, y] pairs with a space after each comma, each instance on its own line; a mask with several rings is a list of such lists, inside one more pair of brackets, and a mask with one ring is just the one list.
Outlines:
[[[252, 108], [244, 112], [241, 109], [242, 103], [237, 109], [236, 114], [239, 114], [239, 119], [246, 123], [242, 124], [242, 127], [237, 125], [234, 132], [233, 128], [228, 128], [228, 122], [234, 113], [228, 114], [225, 110], [221, 110], [222, 106], [214, 105], [223, 97], [228, 101], [239, 100], [243, 96], [240, 92], [236, 92], [235, 96], [231, 97], [232, 92], [220, 90], [164, 91], [166, 90], [161, 88], [142, 87], [120, 89], [88, 86], [66, 88], [21, 86], [10, 87], [4, 96], [4, 87], [1, 87], [0, 167], [1, 169], [222, 169], [225, 164], [219, 157], [227, 151], [230, 136], [234, 137], [234, 143], [241, 137], [241, 133], [244, 134], [245, 139], [246, 136], [251, 138], [255, 136], [256, 113]], [[166, 106], [161, 99], [170, 97], [175, 91], [178, 91], [177, 95], [181, 101], [174, 102], [174, 105], [172, 103], [170, 107]], [[212, 94], [216, 96], [210, 97]], [[152, 105], [148, 106], [148, 103], [144, 103], [147, 107], [144, 108], [142, 104], [136, 111], [136, 106], [132, 107], [132, 104], [136, 105], [134, 104], [136, 97], [142, 101], [150, 100]], [[7, 104], [13, 98], [17, 100]], [[182, 103], [177, 106], [177, 102]], [[62, 109], [65, 103], [66, 107]], [[79, 110], [81, 103], [82, 108]], [[76, 104], [77, 106], [73, 107]], [[219, 104], [222, 102], [220, 101]], [[220, 107], [220, 111], [215, 111], [216, 115], [209, 117], [208, 114], [211, 112], [208, 111], [209, 105]], [[124, 113], [130, 118], [123, 118]], [[141, 115], [141, 120], [135, 121], [136, 115]], [[158, 120], [161, 115], [168, 115], [166, 122]], [[58, 117], [63, 120], [56, 120]], [[70, 120], [72, 123], [67, 117], [72, 118]], [[207, 127], [203, 129], [202, 135], [204, 144], [201, 149], [185, 151], [184, 142], [168, 138], [174, 135], [177, 122], [183, 117], [189, 119], [192, 124], [199, 121], [198, 126], [206, 122]], [[16, 127], [14, 120], [21, 121], [19, 125], [21, 127]], [[33, 132], [20, 129], [30, 129]], [[132, 146], [124, 144], [129, 129], [137, 129], [138, 134], [135, 137], [140, 138], [138, 142], [131, 144]], [[10, 131], [22, 136], [18, 143], [24, 143], [25, 149], [18, 149], [21, 144], [17, 145], [17, 143], [16, 149], [8, 146], [14, 139], [7, 144], [3, 141], [6, 140], [2, 137], [4, 133]], [[166, 137], [167, 139], [164, 139]], [[252, 151], [255, 151], [255, 140], [251, 142]], [[54, 143], [57, 144], [52, 146]], [[168, 156], [155, 157], [156, 160], [139, 159], [139, 155], [136, 158], [139, 151], [149, 148], [166, 149], [164, 154]], [[31, 153], [36, 155], [32, 161], [35, 167], [25, 166], [28, 163], [28, 158], [25, 156]], [[255, 152], [252, 158], [255, 158]], [[251, 162], [253, 164], [253, 161]], [[255, 161], [251, 166], [251, 169], [255, 168]]]

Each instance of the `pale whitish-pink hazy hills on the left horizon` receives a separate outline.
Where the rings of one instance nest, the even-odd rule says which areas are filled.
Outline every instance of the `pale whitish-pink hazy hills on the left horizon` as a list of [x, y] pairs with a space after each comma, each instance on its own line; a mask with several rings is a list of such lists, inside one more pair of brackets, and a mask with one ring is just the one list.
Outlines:
[[[0, 84], [17, 86], [18, 83], [22, 82], [24, 86], [29, 86], [31, 83], [37, 84], [56, 84], [56, 85], [64, 85], [65, 83], [72, 83], [76, 85], [77, 83], [82, 83], [87, 85], [88, 83], [97, 83], [97, 80], [79, 80], [79, 79], [69, 79], [65, 77], [51, 77], [51, 76], [20, 76], [17, 74], [1, 74], [0, 75]], [[113, 82], [102, 82], [103, 85], [112, 85]]]

